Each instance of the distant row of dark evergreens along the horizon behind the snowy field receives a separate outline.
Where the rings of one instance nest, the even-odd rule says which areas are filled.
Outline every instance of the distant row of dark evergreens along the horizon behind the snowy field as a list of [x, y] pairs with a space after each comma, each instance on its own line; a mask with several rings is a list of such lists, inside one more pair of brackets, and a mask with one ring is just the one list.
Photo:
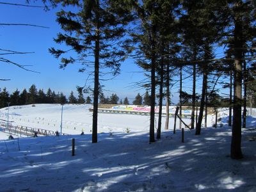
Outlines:
[[[83, 91], [77, 89], [78, 97], [74, 95], [72, 91], [67, 97], [62, 92], [54, 92], [51, 88], [48, 88], [45, 93], [43, 89], [37, 89], [35, 84], [32, 84], [31, 87], [20, 92], [16, 89], [13, 93], [9, 93], [6, 88], [0, 89], [0, 108], [5, 108], [8, 106], [21, 106], [26, 104], [91, 104], [92, 99], [90, 96], [87, 96], [84, 99]], [[100, 93], [99, 98], [100, 104], [130, 104], [127, 97], [124, 100], [119, 99], [116, 93], [112, 93], [110, 97], [105, 97], [104, 93]], [[150, 105], [150, 95], [148, 92], [145, 93], [142, 98], [140, 93], [132, 101], [134, 105]]]

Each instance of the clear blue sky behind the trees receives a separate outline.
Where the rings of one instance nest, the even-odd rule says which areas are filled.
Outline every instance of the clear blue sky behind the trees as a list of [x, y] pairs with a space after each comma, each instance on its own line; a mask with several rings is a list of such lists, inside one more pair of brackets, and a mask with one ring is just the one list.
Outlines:
[[[25, 0], [8, 2], [24, 4]], [[40, 1], [31, 4], [42, 5]], [[68, 96], [72, 90], [76, 92], [77, 85], [83, 86], [88, 74], [77, 72], [81, 66], [70, 65], [65, 70], [60, 70], [60, 61], [56, 60], [48, 51], [50, 47], [60, 46], [53, 41], [56, 34], [61, 31], [56, 22], [58, 10], [60, 8], [45, 12], [42, 8], [0, 4], [1, 23], [36, 24], [49, 27], [49, 29], [45, 29], [30, 26], [0, 26], [0, 49], [35, 52], [34, 54], [17, 54], [4, 57], [22, 65], [33, 65], [27, 68], [40, 72], [40, 74], [28, 72], [8, 63], [0, 62], [0, 79], [11, 79], [11, 81], [0, 81], [0, 88], [6, 87], [12, 93], [16, 88], [23, 90], [29, 88], [31, 84], [36, 84], [38, 89], [43, 88], [45, 92], [47, 88], [51, 88], [55, 92], [63, 92]], [[124, 97], [132, 99], [139, 92], [145, 93], [145, 90], [138, 90], [138, 87], [132, 86], [132, 83], [145, 78], [143, 73], [134, 73], [141, 71], [134, 61], [125, 61], [121, 69], [120, 76], [111, 81], [103, 82], [105, 89], [109, 90], [109, 92], [105, 92], [105, 95], [109, 96], [114, 92], [120, 99], [124, 99]], [[197, 88], [199, 91], [202, 81], [201, 79], [198, 80]], [[183, 90], [191, 92], [191, 78], [186, 79], [183, 86]], [[172, 89], [172, 102], [178, 102], [178, 90], [179, 83]]]

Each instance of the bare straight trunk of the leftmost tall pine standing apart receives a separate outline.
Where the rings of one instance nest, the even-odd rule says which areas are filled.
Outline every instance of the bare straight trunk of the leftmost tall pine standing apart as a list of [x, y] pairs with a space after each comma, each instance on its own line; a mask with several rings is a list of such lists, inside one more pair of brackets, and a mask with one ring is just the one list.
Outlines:
[[[99, 0], [97, 0], [99, 6]], [[99, 97], [99, 54], [100, 54], [100, 37], [99, 37], [99, 13], [96, 12], [96, 40], [95, 40], [95, 61], [94, 61], [94, 90], [93, 90], [93, 115], [92, 115], [92, 143], [97, 143], [97, 123], [98, 123], [98, 97]]]

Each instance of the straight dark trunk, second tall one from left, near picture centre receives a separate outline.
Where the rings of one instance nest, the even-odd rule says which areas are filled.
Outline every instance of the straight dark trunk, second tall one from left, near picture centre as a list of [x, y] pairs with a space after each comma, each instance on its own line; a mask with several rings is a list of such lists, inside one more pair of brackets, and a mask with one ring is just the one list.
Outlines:
[[149, 143], [155, 142], [155, 103], [156, 103], [156, 53], [155, 53], [156, 26], [152, 26], [152, 47], [151, 47], [151, 97], [150, 97], [150, 125]]

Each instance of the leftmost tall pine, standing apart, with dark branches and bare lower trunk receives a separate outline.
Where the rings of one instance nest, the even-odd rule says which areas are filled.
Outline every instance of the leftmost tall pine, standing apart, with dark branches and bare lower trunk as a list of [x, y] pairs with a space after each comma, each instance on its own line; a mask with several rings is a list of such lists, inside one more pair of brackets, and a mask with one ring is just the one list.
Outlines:
[[[59, 1], [63, 6], [76, 6], [77, 12], [61, 10], [57, 13], [57, 21], [63, 31], [55, 39], [56, 43], [65, 42], [77, 52], [77, 58], [62, 58], [61, 68], [67, 67], [70, 63], [77, 61], [88, 65], [87, 55], [94, 54], [94, 88], [93, 88], [93, 124], [92, 143], [97, 143], [97, 113], [99, 99], [99, 70], [109, 67], [115, 76], [120, 72], [120, 62], [124, 60], [124, 51], [120, 49], [120, 44], [113, 44], [113, 40], [121, 40], [124, 35], [124, 24], [127, 23], [127, 14], [120, 4], [115, 1], [95, 0], [95, 1]], [[67, 51], [49, 51], [60, 57]], [[90, 58], [89, 58], [90, 59]], [[102, 61], [102, 62], [100, 62]], [[91, 62], [89, 62], [91, 63]], [[81, 68], [83, 72], [85, 68]]]

